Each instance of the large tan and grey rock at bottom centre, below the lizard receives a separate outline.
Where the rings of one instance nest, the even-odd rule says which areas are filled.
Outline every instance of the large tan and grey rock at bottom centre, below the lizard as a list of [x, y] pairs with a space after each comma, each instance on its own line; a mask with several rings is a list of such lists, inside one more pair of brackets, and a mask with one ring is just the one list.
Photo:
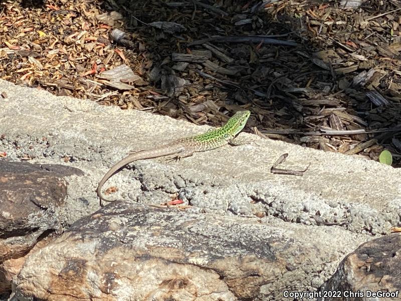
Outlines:
[[15, 292], [45, 300], [279, 300], [304, 280], [311, 288], [360, 242], [350, 232], [325, 239], [340, 228], [298, 232], [281, 223], [115, 202], [29, 256]]

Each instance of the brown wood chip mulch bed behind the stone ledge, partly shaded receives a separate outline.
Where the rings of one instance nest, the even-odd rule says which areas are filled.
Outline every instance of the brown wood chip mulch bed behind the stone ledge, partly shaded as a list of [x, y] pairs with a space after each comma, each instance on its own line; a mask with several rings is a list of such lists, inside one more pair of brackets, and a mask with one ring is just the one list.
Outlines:
[[[401, 1], [0, 3], [0, 77], [401, 161]], [[248, 129], [249, 129], [248, 128]]]

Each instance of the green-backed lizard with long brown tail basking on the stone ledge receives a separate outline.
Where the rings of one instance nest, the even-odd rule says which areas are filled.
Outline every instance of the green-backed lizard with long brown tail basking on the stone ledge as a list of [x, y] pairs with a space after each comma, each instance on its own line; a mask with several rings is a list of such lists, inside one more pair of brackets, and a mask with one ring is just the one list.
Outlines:
[[127, 164], [137, 160], [151, 159], [157, 157], [164, 157], [168, 155], [177, 155], [174, 157], [176, 160], [192, 156], [196, 152], [205, 152], [206, 150], [215, 149], [226, 144], [241, 145], [249, 143], [249, 140], [236, 139], [238, 133], [244, 128], [249, 116], [250, 111], [238, 111], [231, 117], [223, 127], [210, 129], [204, 134], [196, 136], [180, 138], [168, 144], [156, 146], [149, 149], [138, 150], [131, 152], [127, 157], [117, 162], [100, 180], [96, 189], [97, 195], [100, 199], [100, 206], [102, 201], [113, 202], [106, 200], [101, 196], [101, 189], [104, 183], [116, 174]]

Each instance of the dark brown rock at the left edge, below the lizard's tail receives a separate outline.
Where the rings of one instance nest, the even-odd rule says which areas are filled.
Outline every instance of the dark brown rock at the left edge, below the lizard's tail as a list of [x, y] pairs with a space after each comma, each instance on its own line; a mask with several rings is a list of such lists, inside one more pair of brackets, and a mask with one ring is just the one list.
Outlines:
[[0, 160], [0, 292], [11, 288], [10, 279], [24, 263], [22, 257], [60, 229], [66, 195], [67, 183], [60, 174]]

